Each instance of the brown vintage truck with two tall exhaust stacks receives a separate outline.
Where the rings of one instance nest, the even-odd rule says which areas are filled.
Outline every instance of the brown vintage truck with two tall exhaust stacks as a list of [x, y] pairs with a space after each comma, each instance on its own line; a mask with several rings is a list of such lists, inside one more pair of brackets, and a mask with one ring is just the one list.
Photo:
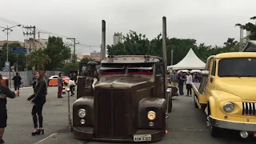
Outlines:
[[148, 55], [104, 58], [106, 23], [102, 21], [100, 68], [97, 70], [96, 62], [88, 62], [89, 70], [84, 69], [84, 75], [78, 77], [78, 99], [73, 105], [70, 126], [75, 138], [155, 142], [167, 134], [172, 101], [166, 84], [166, 18], [162, 21], [163, 58]]

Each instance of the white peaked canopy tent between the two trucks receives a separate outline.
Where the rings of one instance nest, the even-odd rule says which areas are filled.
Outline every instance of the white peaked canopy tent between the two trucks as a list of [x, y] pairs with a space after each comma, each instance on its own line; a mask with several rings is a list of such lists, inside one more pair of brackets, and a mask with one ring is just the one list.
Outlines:
[[173, 70], [204, 70], [206, 66], [205, 62], [202, 62], [194, 51], [190, 49], [190, 51], [186, 54], [185, 58], [182, 59], [181, 62], [178, 62], [176, 65], [167, 66], [168, 69]]

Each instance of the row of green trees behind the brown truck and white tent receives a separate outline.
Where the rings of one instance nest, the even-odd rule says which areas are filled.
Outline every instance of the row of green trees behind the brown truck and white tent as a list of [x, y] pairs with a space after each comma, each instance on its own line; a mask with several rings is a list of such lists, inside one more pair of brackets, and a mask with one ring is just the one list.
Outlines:
[[[109, 55], [155, 55], [162, 57], [162, 34], [151, 41], [146, 38], [145, 34], [137, 34], [130, 30], [129, 34], [123, 36], [123, 42], [115, 46], [106, 46], [107, 54]], [[237, 41], [234, 38], [228, 38], [224, 43], [225, 46], [206, 46], [200, 43], [198, 46], [195, 39], [167, 38], [166, 39], [166, 54], [167, 64], [170, 65], [171, 50], [174, 50], [173, 64], [182, 60], [192, 48], [203, 62], [206, 62], [210, 55], [225, 53], [238, 50]]]

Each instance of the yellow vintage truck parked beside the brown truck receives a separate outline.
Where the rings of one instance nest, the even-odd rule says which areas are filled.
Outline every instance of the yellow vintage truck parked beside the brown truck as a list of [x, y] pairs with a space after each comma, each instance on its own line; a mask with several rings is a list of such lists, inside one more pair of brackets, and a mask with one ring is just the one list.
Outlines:
[[220, 130], [238, 130], [242, 138], [256, 137], [256, 53], [210, 56], [202, 82], [193, 84], [194, 106], [207, 114], [212, 137]]

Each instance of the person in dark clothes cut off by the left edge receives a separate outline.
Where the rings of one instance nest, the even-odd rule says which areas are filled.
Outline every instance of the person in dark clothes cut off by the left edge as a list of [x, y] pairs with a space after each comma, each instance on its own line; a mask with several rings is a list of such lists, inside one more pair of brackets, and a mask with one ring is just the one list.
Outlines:
[[7, 86], [2, 85], [2, 74], [0, 74], [0, 143], [4, 143], [2, 136], [7, 126], [6, 98], [15, 98], [19, 90], [11, 91]]

